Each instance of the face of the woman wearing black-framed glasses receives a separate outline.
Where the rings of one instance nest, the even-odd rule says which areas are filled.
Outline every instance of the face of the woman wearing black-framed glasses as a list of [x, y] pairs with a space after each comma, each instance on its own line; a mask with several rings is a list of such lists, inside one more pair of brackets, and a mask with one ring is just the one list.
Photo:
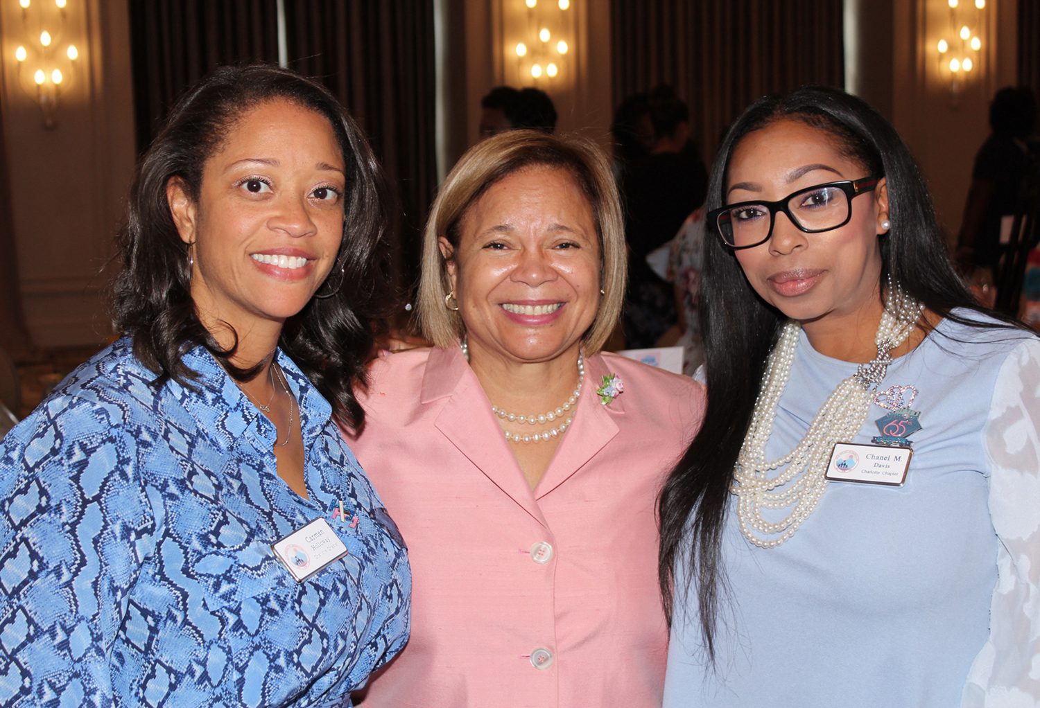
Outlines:
[[[867, 176], [867, 168], [844, 155], [833, 134], [781, 119], [748, 133], [733, 150], [726, 203], [773, 202], [813, 185]], [[810, 337], [820, 325], [833, 330], [854, 325], [861, 317], [880, 317], [878, 237], [885, 233], [881, 221], [888, 216], [884, 179], [851, 205], [848, 224], [816, 234], [800, 231], [778, 213], [769, 241], [735, 252], [755, 292], [801, 321]]]

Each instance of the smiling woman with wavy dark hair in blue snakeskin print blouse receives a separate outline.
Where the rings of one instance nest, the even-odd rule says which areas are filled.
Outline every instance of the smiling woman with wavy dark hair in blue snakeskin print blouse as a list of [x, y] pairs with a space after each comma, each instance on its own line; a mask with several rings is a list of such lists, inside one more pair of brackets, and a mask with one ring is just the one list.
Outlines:
[[120, 339], [0, 443], [0, 705], [349, 706], [409, 631], [357, 427], [381, 172], [321, 86], [225, 68], [138, 166]]

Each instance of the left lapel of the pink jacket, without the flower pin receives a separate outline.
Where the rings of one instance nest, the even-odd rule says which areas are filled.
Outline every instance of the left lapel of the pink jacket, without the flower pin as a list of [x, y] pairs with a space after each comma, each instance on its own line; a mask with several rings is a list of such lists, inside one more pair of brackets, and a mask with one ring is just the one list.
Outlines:
[[422, 403], [442, 398], [446, 400], [435, 421], [437, 428], [488, 479], [546, 526], [535, 495], [491, 415], [491, 402], [462, 351], [454, 347], [434, 348], [423, 374]]

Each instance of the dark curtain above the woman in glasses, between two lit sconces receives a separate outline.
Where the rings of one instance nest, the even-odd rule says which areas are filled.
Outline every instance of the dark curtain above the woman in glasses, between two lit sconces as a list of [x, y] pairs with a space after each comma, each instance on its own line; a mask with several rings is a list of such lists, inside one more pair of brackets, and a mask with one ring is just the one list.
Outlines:
[[[1030, 0], [1022, 0], [1029, 2]], [[841, 0], [610, 0], [614, 102], [672, 84], [710, 164], [752, 101], [805, 83], [842, 86]]]

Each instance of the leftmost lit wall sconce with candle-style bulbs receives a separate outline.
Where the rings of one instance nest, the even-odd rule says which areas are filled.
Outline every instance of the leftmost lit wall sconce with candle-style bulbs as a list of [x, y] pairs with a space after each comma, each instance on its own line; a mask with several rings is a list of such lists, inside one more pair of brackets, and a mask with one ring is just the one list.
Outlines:
[[22, 8], [21, 44], [12, 51], [18, 81], [40, 104], [45, 128], [57, 125], [61, 93], [75, 79], [80, 56], [76, 45], [64, 42], [68, 1], [17, 0]]

